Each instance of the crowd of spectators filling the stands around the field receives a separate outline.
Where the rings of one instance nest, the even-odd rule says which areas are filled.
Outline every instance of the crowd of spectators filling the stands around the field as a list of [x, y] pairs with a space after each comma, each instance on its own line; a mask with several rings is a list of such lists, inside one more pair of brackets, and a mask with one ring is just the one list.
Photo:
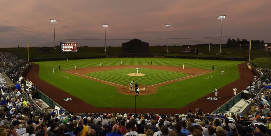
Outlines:
[[[29, 65], [16, 56], [0, 53], [0, 66], [11, 80], [13, 87], [1, 86], [1, 135], [89, 135], [89, 136], [237, 136], [271, 135], [270, 69], [257, 69], [262, 77], [249, 83], [244, 90], [256, 94], [247, 100], [252, 104], [249, 112], [221, 112], [204, 114], [197, 108], [184, 114], [128, 114], [128, 113], [67, 113], [64, 109], [40, 111], [39, 102], [33, 102], [35, 87], [24, 81], [22, 70]], [[8, 56], [8, 57], [7, 57]], [[11, 60], [10, 60], [11, 59]], [[7, 65], [13, 62], [13, 65]], [[21, 63], [24, 62], [23, 65]], [[17, 65], [18, 69], [15, 69]], [[257, 80], [257, 82], [256, 82]], [[258, 81], [260, 87], [258, 87]], [[255, 82], [257, 87], [255, 88]], [[264, 84], [266, 83], [266, 85]], [[24, 87], [23, 87], [24, 86]], [[252, 91], [254, 86], [260, 92]], [[253, 88], [253, 89], [254, 89]], [[246, 93], [246, 92], [245, 92]], [[261, 96], [261, 97], [258, 97]], [[203, 109], [204, 110], [204, 109]], [[37, 112], [38, 111], [38, 112]]]

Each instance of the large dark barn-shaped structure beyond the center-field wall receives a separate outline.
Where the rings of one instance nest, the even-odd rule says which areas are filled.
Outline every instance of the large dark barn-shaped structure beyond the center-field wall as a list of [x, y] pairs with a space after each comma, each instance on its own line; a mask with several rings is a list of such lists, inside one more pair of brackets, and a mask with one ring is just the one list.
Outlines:
[[138, 39], [122, 43], [122, 53], [149, 53], [149, 43]]

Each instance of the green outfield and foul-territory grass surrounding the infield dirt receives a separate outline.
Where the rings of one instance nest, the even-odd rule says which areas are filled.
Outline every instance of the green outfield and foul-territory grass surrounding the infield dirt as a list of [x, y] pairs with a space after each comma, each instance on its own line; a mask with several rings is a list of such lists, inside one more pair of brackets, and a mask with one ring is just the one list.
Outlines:
[[[65, 70], [74, 69], [74, 65], [77, 65], [77, 68], [95, 67], [99, 65], [99, 62], [102, 63], [102, 66], [120, 65], [120, 61], [123, 62], [122, 65], [150, 65], [150, 61], [153, 61], [153, 65], [181, 67], [182, 64], [185, 64], [186, 67], [209, 70], [211, 70], [213, 65], [215, 66], [214, 72], [157, 87], [158, 91], [156, 93], [138, 97], [137, 107], [139, 108], [181, 108], [190, 102], [211, 93], [213, 87], [216, 87], [219, 91], [220, 87], [239, 79], [237, 64], [243, 63], [240, 61], [174, 58], [101, 58], [46, 61], [36, 62], [36, 64], [40, 65], [39, 77], [42, 80], [47, 81], [48, 83], [84, 100], [85, 102], [88, 102], [89, 104], [96, 107], [132, 108], [134, 107], [134, 96], [118, 93], [116, 87], [57, 70], [58, 65], [61, 66], [61, 69]], [[52, 73], [52, 67], [55, 67], [56, 69], [54, 74]], [[222, 69], [224, 71], [223, 77], [221, 76]], [[159, 80], [159, 78], [162, 77], [158, 76], [153, 80]], [[115, 81], [113, 80], [114, 78], [112, 78], [112, 82], [118, 82], [117, 78]], [[129, 83], [129, 81], [126, 81], [126, 84], [124, 82], [122, 84], [129, 85]]]

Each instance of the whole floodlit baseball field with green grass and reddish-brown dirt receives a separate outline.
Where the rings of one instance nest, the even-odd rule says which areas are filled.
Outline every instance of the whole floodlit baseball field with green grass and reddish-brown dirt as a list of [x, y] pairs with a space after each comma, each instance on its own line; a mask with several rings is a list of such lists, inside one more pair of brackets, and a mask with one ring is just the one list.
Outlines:
[[[120, 65], [121, 61], [122, 65]], [[240, 78], [238, 64], [241, 63], [244, 62], [176, 58], [44, 61], [33, 64], [38, 67], [32, 66], [38, 69], [37, 73], [32, 72], [32, 77], [38, 75], [44, 83], [39, 83], [37, 78], [31, 80], [41, 91], [71, 112], [97, 111], [95, 108], [101, 108], [100, 110], [104, 112], [118, 112], [117, 109], [120, 108], [134, 109], [135, 93], [129, 89], [131, 80], [134, 80], [134, 84], [138, 83], [140, 88], [139, 96], [136, 97], [138, 109], [170, 111], [170, 109], [176, 110], [189, 105], [208, 94], [211, 95], [213, 87], [220, 91], [220, 88], [238, 80]], [[185, 69], [182, 67], [183, 64]], [[77, 65], [77, 70], [75, 70], [75, 65]], [[212, 66], [215, 67], [214, 71]], [[144, 76], [135, 74], [136, 67]], [[224, 76], [221, 76], [222, 70]], [[31, 76], [28, 75], [27, 78]], [[47, 88], [42, 87], [44, 84], [47, 84]], [[232, 88], [229, 88], [229, 92], [232, 92]], [[224, 93], [228, 94], [228, 92]], [[64, 94], [69, 94], [73, 100], [63, 102], [63, 99], [69, 97]], [[229, 96], [220, 95], [220, 97], [229, 99]], [[78, 103], [80, 100], [83, 103]], [[78, 104], [70, 107], [69, 103]], [[90, 105], [91, 109], [85, 109], [87, 105]], [[197, 107], [197, 105], [194, 106]], [[166, 111], [161, 111], [161, 113], [164, 112]]]

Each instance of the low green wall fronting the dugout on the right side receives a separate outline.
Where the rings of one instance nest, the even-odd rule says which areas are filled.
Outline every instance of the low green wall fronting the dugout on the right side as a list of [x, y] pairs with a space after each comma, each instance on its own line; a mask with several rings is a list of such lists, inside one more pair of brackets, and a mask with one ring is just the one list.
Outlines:
[[[243, 91], [241, 91], [241, 92], [243, 92]], [[242, 94], [241, 92], [238, 93], [233, 98], [231, 98], [230, 100], [228, 100], [225, 104], [223, 104], [222, 106], [220, 106], [213, 113], [221, 113], [223, 111], [229, 111], [229, 109], [231, 109], [231, 107], [233, 107], [238, 101], [241, 100], [241, 94]]]

